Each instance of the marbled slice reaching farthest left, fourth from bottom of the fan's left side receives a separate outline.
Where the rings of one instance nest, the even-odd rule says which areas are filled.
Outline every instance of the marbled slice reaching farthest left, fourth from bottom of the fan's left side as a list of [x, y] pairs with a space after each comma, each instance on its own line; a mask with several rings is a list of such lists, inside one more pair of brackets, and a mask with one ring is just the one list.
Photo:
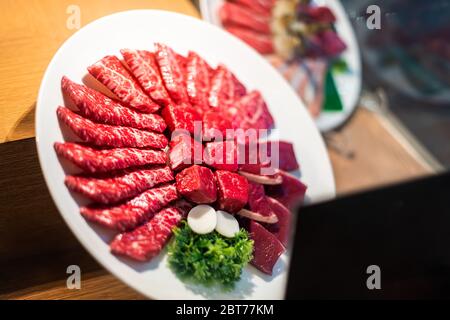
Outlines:
[[132, 148], [98, 150], [71, 142], [56, 142], [55, 150], [59, 156], [90, 173], [116, 171], [167, 162], [166, 153], [159, 150]]

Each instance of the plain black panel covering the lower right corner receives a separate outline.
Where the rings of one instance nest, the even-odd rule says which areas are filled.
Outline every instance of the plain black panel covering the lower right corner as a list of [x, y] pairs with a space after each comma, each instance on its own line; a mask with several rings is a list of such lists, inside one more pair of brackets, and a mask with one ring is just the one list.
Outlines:
[[[288, 299], [450, 297], [450, 173], [298, 214]], [[367, 289], [369, 265], [380, 290]]]

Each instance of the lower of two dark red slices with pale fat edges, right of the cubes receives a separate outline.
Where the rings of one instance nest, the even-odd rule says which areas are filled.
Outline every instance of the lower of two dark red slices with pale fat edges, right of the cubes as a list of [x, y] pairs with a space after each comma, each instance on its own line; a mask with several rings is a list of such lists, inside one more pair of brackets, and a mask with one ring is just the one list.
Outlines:
[[264, 186], [251, 181], [248, 185], [248, 209], [241, 209], [238, 214], [259, 222], [277, 223], [278, 217], [270, 206]]

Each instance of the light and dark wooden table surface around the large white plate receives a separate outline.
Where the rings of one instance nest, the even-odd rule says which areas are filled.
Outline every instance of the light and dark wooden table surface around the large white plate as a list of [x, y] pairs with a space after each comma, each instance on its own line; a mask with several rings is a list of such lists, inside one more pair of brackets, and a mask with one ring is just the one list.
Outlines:
[[[74, 3], [0, 2], [0, 299], [143, 298], [99, 266], [66, 227], [43, 181], [31, 139], [45, 68], [76, 31], [66, 27], [67, 8]], [[81, 25], [137, 8], [199, 16], [188, 0], [78, 0], [76, 4]], [[327, 137], [332, 142], [329, 154], [338, 194], [431, 173], [381, 120], [360, 109], [343, 130]], [[71, 264], [81, 267], [81, 290], [66, 288], [66, 268]]]

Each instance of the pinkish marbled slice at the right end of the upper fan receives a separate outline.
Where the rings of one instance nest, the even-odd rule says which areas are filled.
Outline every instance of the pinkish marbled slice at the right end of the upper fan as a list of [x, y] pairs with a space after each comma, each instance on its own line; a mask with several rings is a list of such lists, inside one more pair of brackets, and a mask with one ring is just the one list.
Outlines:
[[242, 97], [228, 112], [234, 117], [234, 126], [244, 130], [270, 129], [275, 123], [264, 98], [256, 90]]

